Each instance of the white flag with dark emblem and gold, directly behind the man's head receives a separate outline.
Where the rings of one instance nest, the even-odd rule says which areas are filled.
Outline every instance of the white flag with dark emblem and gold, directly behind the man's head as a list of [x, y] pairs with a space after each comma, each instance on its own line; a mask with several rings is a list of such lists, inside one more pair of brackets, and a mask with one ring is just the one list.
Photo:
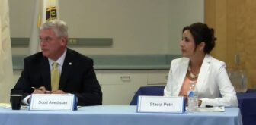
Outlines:
[[39, 27], [46, 21], [59, 19], [59, 0], [35, 0], [34, 18], [29, 42], [30, 55], [40, 51]]

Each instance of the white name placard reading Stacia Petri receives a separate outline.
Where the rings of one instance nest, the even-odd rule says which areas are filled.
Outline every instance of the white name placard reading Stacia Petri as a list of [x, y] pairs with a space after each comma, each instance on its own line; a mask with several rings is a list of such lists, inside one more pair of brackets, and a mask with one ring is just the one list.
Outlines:
[[139, 96], [137, 112], [183, 113], [184, 97]]

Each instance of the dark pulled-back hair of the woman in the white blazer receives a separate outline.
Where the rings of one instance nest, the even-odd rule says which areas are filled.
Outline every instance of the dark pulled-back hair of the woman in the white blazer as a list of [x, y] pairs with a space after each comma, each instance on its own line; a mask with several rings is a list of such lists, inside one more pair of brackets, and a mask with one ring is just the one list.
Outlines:
[[213, 28], [209, 28], [204, 23], [193, 23], [190, 26], [184, 27], [182, 30], [182, 33], [184, 33], [185, 30], [190, 30], [190, 33], [194, 38], [196, 48], [197, 48], [197, 45], [199, 45], [201, 42], [205, 42], [205, 47], [203, 52], [210, 53], [212, 51], [212, 49], [215, 46], [215, 40], [216, 40], [216, 37], [214, 36]]

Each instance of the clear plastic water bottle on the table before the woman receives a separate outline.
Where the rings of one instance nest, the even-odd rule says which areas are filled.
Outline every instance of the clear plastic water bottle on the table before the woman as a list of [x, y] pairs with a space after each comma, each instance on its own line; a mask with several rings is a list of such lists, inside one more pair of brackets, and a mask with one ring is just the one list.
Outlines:
[[196, 82], [190, 81], [187, 92], [187, 110], [197, 111], [198, 108], [198, 93], [196, 89]]

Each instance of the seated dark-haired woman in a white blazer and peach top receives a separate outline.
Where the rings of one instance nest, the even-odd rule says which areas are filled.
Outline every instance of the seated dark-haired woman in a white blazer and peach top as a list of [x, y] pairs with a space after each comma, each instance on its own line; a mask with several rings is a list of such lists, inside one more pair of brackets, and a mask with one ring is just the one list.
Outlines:
[[214, 31], [204, 23], [184, 27], [180, 42], [183, 58], [171, 61], [165, 96], [185, 96], [190, 81], [196, 81], [199, 106], [238, 106], [226, 64], [209, 55], [214, 48]]

